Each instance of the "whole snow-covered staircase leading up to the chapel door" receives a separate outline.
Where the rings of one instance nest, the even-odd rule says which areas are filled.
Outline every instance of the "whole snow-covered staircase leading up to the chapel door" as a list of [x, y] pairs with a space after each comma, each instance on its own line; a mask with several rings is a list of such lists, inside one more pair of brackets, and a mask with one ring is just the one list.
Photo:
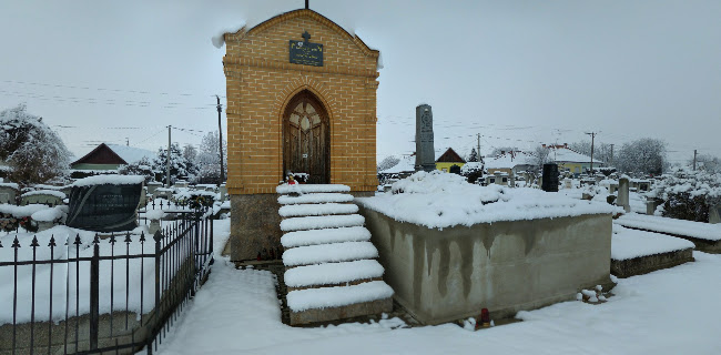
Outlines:
[[390, 312], [393, 288], [345, 185], [281, 185], [291, 324]]

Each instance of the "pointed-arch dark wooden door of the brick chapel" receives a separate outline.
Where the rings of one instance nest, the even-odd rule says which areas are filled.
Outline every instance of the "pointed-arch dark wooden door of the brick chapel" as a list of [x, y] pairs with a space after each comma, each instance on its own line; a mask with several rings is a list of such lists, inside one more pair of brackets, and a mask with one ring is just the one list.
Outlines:
[[[329, 183], [328, 114], [309, 91], [296, 94], [283, 114], [283, 172], [307, 174], [309, 184]], [[303, 180], [303, 179], [301, 179]]]

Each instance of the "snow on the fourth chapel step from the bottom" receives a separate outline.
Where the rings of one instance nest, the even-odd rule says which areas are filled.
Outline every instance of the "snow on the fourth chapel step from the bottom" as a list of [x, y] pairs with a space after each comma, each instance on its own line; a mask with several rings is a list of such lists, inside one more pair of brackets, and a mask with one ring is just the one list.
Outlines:
[[285, 248], [305, 245], [367, 241], [370, 241], [370, 232], [364, 226], [296, 231], [285, 233], [281, 237], [281, 244], [283, 244], [283, 247]]

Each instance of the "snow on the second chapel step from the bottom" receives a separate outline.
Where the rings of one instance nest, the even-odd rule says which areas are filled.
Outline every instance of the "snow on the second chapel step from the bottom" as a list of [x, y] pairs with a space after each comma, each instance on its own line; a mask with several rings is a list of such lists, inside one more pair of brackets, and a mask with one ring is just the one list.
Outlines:
[[375, 260], [306, 265], [285, 271], [285, 285], [291, 288], [326, 286], [382, 277], [383, 266]]

